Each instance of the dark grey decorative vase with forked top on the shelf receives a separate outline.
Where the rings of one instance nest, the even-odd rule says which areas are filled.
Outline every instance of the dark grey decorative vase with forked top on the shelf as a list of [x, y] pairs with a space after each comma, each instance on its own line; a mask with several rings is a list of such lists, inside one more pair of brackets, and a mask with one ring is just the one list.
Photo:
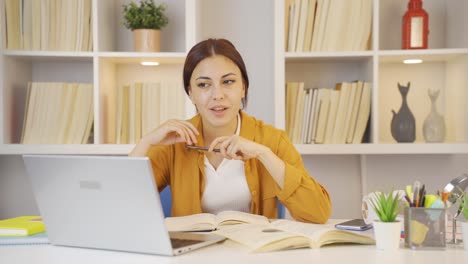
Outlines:
[[410, 82], [407, 86], [398, 83], [398, 89], [402, 97], [402, 103], [398, 113], [392, 110], [393, 117], [391, 122], [392, 136], [397, 142], [414, 142], [416, 139], [416, 120], [411, 113], [406, 96], [410, 88]]

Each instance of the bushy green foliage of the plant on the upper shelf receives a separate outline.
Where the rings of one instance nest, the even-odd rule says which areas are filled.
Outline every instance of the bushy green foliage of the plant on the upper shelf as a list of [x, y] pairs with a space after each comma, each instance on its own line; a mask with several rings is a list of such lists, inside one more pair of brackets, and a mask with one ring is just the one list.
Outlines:
[[131, 30], [161, 29], [169, 23], [165, 10], [165, 4], [156, 5], [153, 0], [142, 0], [139, 6], [131, 2], [123, 5], [123, 25]]

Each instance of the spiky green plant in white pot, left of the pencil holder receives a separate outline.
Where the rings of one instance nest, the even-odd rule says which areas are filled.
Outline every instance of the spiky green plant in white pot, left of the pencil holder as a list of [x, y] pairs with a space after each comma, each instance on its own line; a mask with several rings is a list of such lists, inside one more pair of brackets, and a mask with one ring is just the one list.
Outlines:
[[370, 204], [380, 221], [374, 221], [377, 249], [394, 250], [400, 246], [401, 222], [397, 216], [401, 211], [400, 192], [376, 192]]

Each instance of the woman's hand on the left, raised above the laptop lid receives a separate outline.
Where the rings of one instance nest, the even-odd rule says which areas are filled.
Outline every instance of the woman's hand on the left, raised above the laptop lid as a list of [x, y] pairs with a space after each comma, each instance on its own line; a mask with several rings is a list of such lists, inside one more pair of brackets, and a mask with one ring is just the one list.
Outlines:
[[198, 130], [189, 122], [184, 120], [170, 119], [162, 123], [152, 132], [146, 134], [144, 140], [149, 145], [172, 145], [185, 142], [188, 145], [197, 143]]

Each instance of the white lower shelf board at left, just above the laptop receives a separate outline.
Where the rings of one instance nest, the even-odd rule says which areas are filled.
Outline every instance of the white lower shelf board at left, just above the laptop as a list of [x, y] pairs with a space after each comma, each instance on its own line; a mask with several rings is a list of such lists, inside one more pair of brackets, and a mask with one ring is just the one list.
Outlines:
[[127, 155], [134, 145], [83, 144], [83, 145], [0, 145], [0, 155], [66, 154], [66, 155]]

